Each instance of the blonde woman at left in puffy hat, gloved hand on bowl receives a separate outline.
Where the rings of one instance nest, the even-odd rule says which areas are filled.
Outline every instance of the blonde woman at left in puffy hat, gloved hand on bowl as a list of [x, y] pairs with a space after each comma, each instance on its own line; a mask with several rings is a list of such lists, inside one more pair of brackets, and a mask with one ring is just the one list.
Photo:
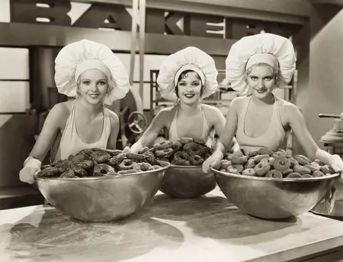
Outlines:
[[75, 97], [51, 108], [32, 152], [24, 162], [21, 181], [34, 182], [51, 145], [54, 159], [66, 159], [85, 148], [115, 149], [119, 118], [104, 104], [125, 97], [130, 85], [122, 62], [105, 45], [80, 40], [63, 47], [55, 60], [58, 92]]

